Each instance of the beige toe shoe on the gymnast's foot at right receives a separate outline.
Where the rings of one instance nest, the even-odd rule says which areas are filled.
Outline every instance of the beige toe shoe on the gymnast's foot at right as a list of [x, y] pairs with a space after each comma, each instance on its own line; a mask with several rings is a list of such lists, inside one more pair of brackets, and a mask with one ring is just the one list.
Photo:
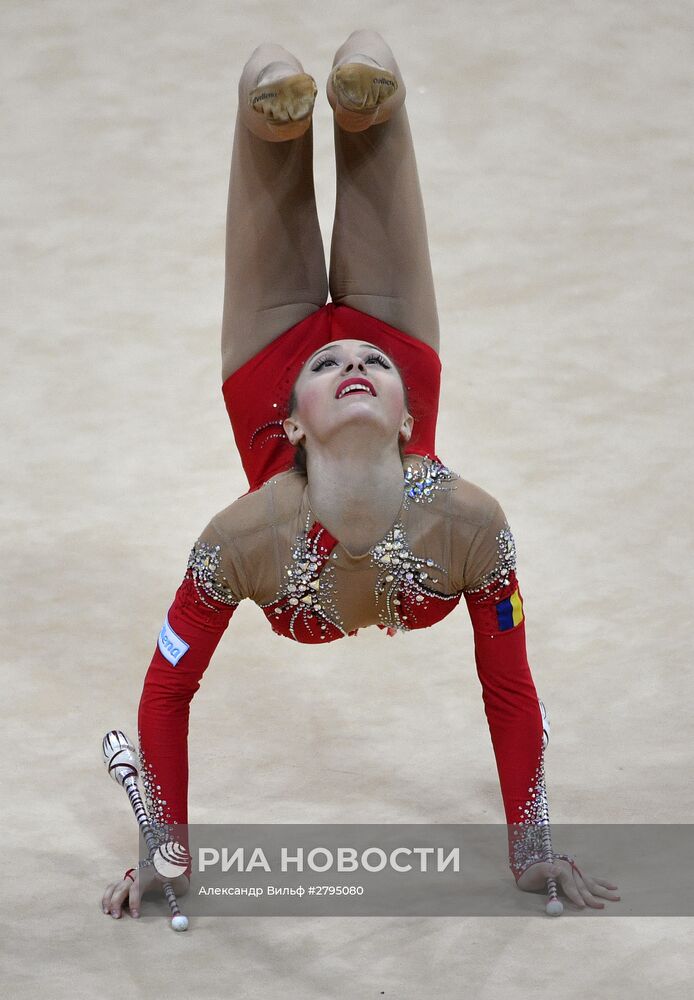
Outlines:
[[[360, 54], [354, 53], [351, 58], [355, 57], [360, 58]], [[390, 118], [394, 104], [402, 103], [391, 100], [398, 89], [393, 73], [370, 60], [368, 64], [344, 62], [335, 66], [328, 77], [326, 92], [340, 128], [362, 132]]]

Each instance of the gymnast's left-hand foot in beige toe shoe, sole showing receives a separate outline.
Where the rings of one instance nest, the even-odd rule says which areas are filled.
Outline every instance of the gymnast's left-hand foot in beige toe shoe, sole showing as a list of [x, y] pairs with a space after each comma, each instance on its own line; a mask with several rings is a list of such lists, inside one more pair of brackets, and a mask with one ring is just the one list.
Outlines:
[[261, 139], [298, 139], [311, 126], [318, 88], [308, 73], [289, 62], [268, 63], [248, 94], [249, 128]]

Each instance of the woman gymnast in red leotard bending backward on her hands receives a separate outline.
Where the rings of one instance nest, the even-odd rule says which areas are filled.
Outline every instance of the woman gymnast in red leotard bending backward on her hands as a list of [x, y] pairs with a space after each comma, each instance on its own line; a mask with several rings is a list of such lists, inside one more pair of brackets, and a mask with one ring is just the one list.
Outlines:
[[[537, 891], [553, 875], [578, 906], [602, 907], [616, 886], [566, 855], [548, 860], [524, 835], [546, 818], [544, 714], [504, 512], [436, 455], [438, 316], [400, 68], [374, 31], [353, 32], [335, 54], [329, 283], [313, 186], [316, 93], [275, 44], [254, 50], [239, 83], [222, 391], [249, 490], [195, 542], [145, 677], [150, 815], [163, 827], [188, 822], [190, 701], [241, 600], [279, 635], [325, 643], [369, 625], [426, 628], [464, 597], [516, 883]], [[110, 885], [104, 912], [118, 917], [127, 902], [137, 914], [151, 871]], [[182, 875], [174, 887], [186, 884]]]

